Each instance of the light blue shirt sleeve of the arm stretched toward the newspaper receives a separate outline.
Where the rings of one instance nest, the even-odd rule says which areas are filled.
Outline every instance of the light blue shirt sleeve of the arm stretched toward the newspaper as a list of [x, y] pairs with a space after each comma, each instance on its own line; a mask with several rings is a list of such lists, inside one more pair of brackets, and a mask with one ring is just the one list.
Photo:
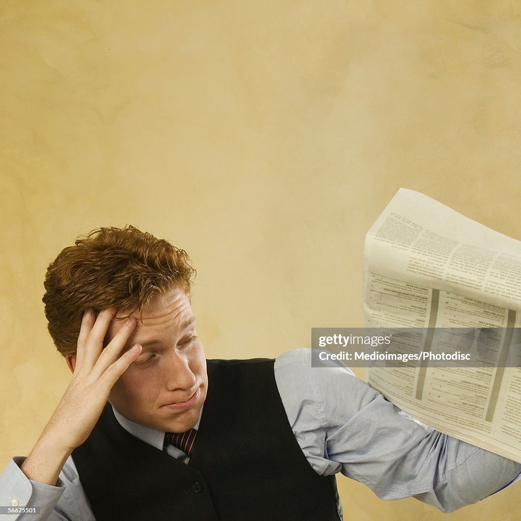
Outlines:
[[311, 350], [275, 362], [282, 403], [318, 474], [342, 473], [378, 497], [414, 496], [443, 512], [518, 478], [521, 465], [414, 420], [345, 366], [312, 367]]

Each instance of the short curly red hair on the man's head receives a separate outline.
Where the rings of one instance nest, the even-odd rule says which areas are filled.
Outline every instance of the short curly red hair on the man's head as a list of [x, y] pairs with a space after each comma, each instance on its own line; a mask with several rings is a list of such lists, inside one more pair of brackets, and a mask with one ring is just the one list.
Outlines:
[[85, 309], [115, 306], [125, 318], [152, 297], [173, 289], [190, 293], [195, 269], [184, 250], [133, 226], [98, 228], [79, 237], [49, 264], [45, 316], [57, 350], [76, 352]]

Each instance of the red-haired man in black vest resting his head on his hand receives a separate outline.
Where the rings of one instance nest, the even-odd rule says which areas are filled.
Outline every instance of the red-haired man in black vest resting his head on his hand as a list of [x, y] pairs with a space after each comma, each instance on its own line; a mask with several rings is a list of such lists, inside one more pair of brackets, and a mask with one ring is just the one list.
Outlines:
[[308, 350], [206, 362], [193, 274], [183, 250], [133, 227], [95, 230], [49, 265], [48, 328], [73, 376], [0, 478], [2, 505], [40, 514], [6, 519], [329, 521], [338, 472], [451, 511], [519, 475], [349, 369], [311, 368]]

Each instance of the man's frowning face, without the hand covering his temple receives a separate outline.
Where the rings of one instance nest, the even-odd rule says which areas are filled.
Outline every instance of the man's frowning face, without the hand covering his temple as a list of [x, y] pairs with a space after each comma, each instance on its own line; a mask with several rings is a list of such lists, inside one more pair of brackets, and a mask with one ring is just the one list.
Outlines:
[[[190, 300], [174, 290], [133, 316], [137, 326], [123, 352], [134, 344], [141, 344], [143, 351], [119, 377], [109, 400], [120, 414], [141, 425], [168, 432], [188, 430], [199, 419], [208, 387]], [[122, 327], [122, 320], [113, 320], [106, 342]], [[187, 401], [188, 408], [180, 403]], [[168, 406], [175, 403], [179, 405]]]

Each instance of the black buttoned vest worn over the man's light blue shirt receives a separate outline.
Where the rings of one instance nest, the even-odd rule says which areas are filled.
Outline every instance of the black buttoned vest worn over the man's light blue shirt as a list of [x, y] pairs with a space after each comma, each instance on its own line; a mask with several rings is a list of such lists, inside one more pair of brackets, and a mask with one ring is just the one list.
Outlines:
[[334, 477], [309, 465], [267, 359], [208, 361], [189, 464], [123, 429], [109, 404], [72, 453], [97, 521], [338, 521]]

